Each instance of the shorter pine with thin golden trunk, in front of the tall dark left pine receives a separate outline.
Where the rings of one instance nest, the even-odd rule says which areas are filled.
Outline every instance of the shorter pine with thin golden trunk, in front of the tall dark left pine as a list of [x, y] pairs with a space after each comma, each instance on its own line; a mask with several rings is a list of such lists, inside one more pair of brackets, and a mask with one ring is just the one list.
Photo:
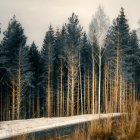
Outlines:
[[26, 95], [28, 97], [29, 88], [31, 87], [31, 67], [29, 62], [29, 48], [27, 46], [20, 46], [16, 54], [15, 68], [15, 112], [16, 118], [26, 118]]

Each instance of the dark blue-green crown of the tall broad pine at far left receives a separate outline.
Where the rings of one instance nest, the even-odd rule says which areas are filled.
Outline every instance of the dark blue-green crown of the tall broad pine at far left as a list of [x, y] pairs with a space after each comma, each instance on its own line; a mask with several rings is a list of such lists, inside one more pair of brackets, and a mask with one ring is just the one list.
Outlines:
[[15, 67], [16, 54], [20, 46], [24, 46], [26, 37], [21, 24], [16, 20], [15, 16], [10, 20], [7, 30], [4, 32], [4, 38], [1, 45], [4, 48], [5, 55], [7, 56], [7, 68], [12, 75]]

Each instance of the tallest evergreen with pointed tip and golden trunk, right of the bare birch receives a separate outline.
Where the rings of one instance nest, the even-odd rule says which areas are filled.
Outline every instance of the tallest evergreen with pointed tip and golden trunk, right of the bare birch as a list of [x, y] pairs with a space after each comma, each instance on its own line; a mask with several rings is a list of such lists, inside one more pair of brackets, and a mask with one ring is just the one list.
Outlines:
[[106, 61], [111, 64], [112, 80], [114, 79], [114, 111], [119, 111], [122, 99], [127, 97], [126, 92], [124, 92], [125, 82], [123, 81], [127, 81], [127, 83], [132, 83], [133, 81], [133, 45], [136, 43], [131, 39], [123, 8], [121, 8], [117, 19], [113, 21], [108, 33], [106, 38]]

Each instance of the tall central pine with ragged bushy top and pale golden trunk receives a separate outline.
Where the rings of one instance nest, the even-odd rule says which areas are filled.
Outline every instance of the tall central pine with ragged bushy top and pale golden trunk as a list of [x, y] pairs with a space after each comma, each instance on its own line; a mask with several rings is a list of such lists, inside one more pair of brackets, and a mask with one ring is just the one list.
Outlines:
[[[68, 66], [68, 86], [71, 87], [70, 92], [70, 105], [71, 105], [71, 115], [75, 114], [75, 84], [77, 80], [78, 72], [78, 51], [80, 47], [82, 27], [79, 25], [78, 16], [74, 13], [68, 19], [69, 23], [66, 26], [66, 48], [65, 48], [65, 58]], [[68, 91], [69, 92], [69, 91]]]

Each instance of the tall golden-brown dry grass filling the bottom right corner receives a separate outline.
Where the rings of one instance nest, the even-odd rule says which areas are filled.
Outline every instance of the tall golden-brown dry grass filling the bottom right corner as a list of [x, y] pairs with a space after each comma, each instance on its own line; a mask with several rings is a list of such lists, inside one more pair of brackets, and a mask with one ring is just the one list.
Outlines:
[[123, 107], [124, 114], [121, 117], [94, 121], [88, 133], [78, 129], [67, 140], [134, 140], [136, 131], [140, 131], [136, 130], [140, 102], [129, 100]]

